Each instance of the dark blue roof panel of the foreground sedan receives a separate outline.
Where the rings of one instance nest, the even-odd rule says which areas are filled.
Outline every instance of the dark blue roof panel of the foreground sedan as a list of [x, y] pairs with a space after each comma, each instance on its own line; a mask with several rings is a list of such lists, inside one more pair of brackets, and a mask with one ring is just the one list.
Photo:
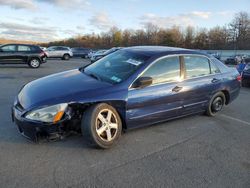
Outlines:
[[134, 46], [134, 47], [124, 48], [124, 50], [137, 52], [151, 57], [171, 55], [171, 54], [198, 54], [209, 57], [207, 53], [201, 51], [190, 50], [185, 48], [168, 47], [168, 46]]

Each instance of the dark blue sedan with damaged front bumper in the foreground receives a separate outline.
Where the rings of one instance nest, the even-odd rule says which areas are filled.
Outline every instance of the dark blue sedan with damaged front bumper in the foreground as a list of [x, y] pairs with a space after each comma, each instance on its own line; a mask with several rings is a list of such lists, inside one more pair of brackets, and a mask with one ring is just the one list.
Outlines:
[[196, 113], [214, 116], [238, 96], [240, 82], [235, 68], [201, 52], [130, 47], [26, 84], [12, 117], [35, 141], [74, 130], [109, 148], [122, 130]]

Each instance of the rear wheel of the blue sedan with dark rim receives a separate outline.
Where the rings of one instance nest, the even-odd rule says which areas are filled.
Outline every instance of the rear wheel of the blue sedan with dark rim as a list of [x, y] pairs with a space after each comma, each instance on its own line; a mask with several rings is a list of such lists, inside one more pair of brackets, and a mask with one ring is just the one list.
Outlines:
[[206, 114], [208, 116], [215, 116], [216, 113], [220, 112], [224, 107], [226, 97], [223, 92], [216, 93], [209, 101]]

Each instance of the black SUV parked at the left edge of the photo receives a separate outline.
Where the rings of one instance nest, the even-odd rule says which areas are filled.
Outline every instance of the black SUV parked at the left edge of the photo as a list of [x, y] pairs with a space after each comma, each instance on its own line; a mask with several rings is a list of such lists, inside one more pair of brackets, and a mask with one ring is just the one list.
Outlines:
[[27, 64], [38, 68], [46, 62], [45, 52], [36, 45], [5, 44], [0, 46], [0, 64]]

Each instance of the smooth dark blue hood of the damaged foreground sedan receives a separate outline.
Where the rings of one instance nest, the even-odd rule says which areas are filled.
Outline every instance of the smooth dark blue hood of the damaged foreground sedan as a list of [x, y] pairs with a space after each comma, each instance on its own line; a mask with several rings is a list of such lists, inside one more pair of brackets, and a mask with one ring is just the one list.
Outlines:
[[18, 94], [24, 109], [75, 102], [105, 92], [111, 84], [98, 81], [78, 69], [53, 74], [26, 84]]

